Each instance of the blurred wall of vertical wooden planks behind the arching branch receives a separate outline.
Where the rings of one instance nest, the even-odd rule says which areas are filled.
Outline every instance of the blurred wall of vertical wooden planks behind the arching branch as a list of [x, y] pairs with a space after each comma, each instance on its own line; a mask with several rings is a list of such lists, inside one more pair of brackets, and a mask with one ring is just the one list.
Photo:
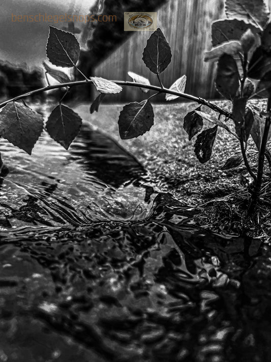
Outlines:
[[[271, 1], [271, 0], [270, 0]], [[195, 96], [215, 98], [215, 65], [205, 63], [203, 54], [210, 49], [212, 22], [225, 16], [223, 0], [168, 0], [157, 10], [158, 26], [161, 27], [172, 50], [172, 61], [161, 74], [166, 87], [183, 74], [187, 75], [186, 92]], [[158, 84], [156, 75], [142, 61], [142, 51], [151, 32], [135, 32], [95, 69], [95, 75], [107, 79], [131, 80], [127, 72], [133, 71]], [[138, 89], [126, 88], [119, 95], [110, 96], [114, 101], [144, 99]], [[158, 101], [163, 95], [157, 97]]]

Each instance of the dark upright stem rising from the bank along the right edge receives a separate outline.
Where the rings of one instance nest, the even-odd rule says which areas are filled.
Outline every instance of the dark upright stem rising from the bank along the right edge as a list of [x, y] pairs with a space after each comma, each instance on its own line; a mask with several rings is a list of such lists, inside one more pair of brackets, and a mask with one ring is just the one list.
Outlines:
[[[269, 96], [268, 100], [267, 100], [267, 107], [266, 107], [266, 112], [269, 113], [270, 112], [270, 108], [271, 108], [271, 96]], [[268, 133], [269, 133], [269, 128], [270, 128], [270, 124], [271, 124], [271, 119], [270, 116], [266, 117], [265, 119], [265, 125], [264, 125], [264, 130], [263, 130], [263, 135], [262, 135], [262, 142], [261, 142], [261, 147], [260, 147], [260, 152], [259, 152], [259, 158], [258, 158], [258, 172], [257, 172], [257, 180], [254, 186], [254, 190], [252, 193], [252, 198], [251, 198], [251, 205], [250, 205], [250, 210], [253, 211], [258, 199], [259, 199], [259, 194], [261, 191], [261, 184], [262, 184], [262, 176], [263, 176], [263, 166], [264, 166], [264, 156], [265, 156], [265, 151], [266, 151], [266, 144], [267, 144], [267, 138], [268, 138]]]

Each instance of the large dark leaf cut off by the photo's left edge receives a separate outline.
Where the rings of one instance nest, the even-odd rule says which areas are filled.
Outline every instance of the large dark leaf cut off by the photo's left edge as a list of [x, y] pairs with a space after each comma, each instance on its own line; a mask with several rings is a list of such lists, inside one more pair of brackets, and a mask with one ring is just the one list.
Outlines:
[[0, 113], [0, 135], [29, 155], [43, 130], [43, 118], [35, 110], [10, 102]]

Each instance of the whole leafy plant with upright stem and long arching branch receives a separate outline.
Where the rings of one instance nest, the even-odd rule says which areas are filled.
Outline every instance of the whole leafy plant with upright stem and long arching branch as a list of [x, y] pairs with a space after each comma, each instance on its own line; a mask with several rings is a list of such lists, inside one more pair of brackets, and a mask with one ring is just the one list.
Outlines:
[[[266, 143], [271, 135], [271, 22], [268, 22], [269, 11], [264, 0], [253, 2], [225, 0], [225, 9], [227, 18], [214, 21], [212, 25], [213, 48], [205, 53], [205, 61], [217, 62], [216, 87], [226, 99], [231, 101], [231, 112], [203, 98], [184, 93], [185, 75], [177, 79], [169, 89], [163, 86], [160, 74], [170, 64], [172, 54], [164, 34], [158, 28], [147, 40], [142, 59], [147, 68], [157, 75], [159, 86], [150, 85], [148, 79], [133, 72], [128, 72], [133, 81], [113, 82], [100, 77], [87, 78], [84, 74], [82, 75], [85, 80], [72, 81], [63, 71], [53, 69], [44, 63], [46, 78], [47, 74], [50, 74], [59, 84], [50, 86], [48, 82], [48, 86], [44, 88], [1, 103], [0, 108], [3, 109], [0, 113], [0, 135], [31, 154], [43, 130], [44, 120], [24, 102], [21, 104], [18, 100], [56, 88], [65, 87], [66, 95], [71, 87], [86, 82], [94, 83], [100, 93], [91, 105], [91, 113], [98, 112], [106, 94], [119, 93], [122, 91], [122, 86], [139, 87], [144, 93], [149, 90], [155, 91], [155, 94], [142, 102], [133, 102], [124, 106], [118, 119], [119, 134], [124, 140], [138, 137], [153, 126], [154, 112], [151, 98], [160, 93], [166, 94], [167, 101], [183, 97], [200, 104], [185, 116], [184, 129], [188, 133], [189, 140], [196, 136], [195, 154], [201, 163], [208, 161], [212, 155], [218, 127], [224, 128], [238, 140], [242, 156], [230, 157], [224, 169], [238, 166], [244, 160], [253, 179], [250, 188], [253, 209], [260, 197], [264, 157], [267, 157], [271, 164], [270, 154], [266, 150]], [[79, 43], [73, 34], [50, 26], [46, 53], [53, 65], [73, 67], [80, 71], [76, 66], [79, 51]], [[242, 69], [241, 72], [238, 66]], [[266, 112], [262, 113], [259, 108], [247, 104], [255, 95], [268, 98]], [[68, 149], [79, 132], [82, 120], [70, 107], [63, 105], [64, 97], [52, 110], [45, 129], [56, 142]], [[201, 105], [214, 110], [219, 116], [214, 117], [201, 112]], [[213, 123], [214, 127], [202, 130], [203, 120]], [[233, 123], [233, 128], [227, 125], [229, 121]], [[258, 149], [257, 174], [252, 171], [246, 155], [250, 135]]]

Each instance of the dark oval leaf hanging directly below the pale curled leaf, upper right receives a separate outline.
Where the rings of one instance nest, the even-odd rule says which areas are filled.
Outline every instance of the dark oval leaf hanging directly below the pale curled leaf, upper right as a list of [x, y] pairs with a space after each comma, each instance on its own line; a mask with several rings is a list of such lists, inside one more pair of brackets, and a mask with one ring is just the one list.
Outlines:
[[239, 73], [235, 60], [229, 54], [219, 58], [216, 88], [227, 99], [233, 99], [239, 88]]

